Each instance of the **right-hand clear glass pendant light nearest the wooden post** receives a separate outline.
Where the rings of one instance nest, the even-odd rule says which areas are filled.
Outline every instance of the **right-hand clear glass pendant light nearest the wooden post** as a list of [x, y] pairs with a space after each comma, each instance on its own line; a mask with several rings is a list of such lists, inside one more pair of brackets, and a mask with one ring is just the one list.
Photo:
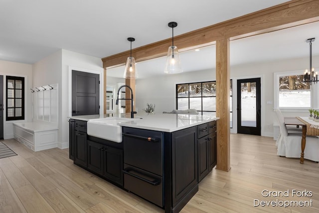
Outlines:
[[172, 30], [172, 45], [168, 47], [165, 73], [179, 73], [182, 72], [179, 60], [177, 46], [174, 46], [174, 27], [177, 26], [176, 22], [169, 22], [168, 26]]

